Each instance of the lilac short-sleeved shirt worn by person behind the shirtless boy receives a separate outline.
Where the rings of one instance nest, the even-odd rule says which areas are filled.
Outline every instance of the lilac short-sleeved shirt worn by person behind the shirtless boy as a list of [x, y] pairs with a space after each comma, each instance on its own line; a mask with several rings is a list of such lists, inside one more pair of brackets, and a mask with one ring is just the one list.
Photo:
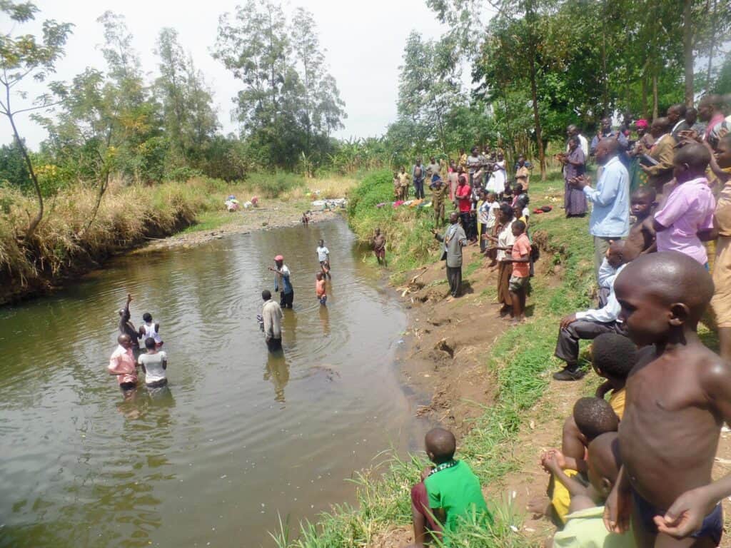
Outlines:
[[666, 227], [657, 233], [657, 251], [680, 251], [705, 265], [708, 255], [698, 232], [713, 228], [713, 198], [705, 177], [689, 180], [670, 192], [655, 220]]

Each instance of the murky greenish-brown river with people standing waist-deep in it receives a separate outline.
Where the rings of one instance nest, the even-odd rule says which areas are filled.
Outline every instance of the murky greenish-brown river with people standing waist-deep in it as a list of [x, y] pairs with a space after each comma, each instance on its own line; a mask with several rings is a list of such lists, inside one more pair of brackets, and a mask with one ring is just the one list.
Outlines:
[[[256, 321], [275, 254], [295, 286], [284, 357]], [[161, 324], [170, 382], [129, 401], [106, 373], [127, 292], [135, 324]], [[405, 328], [344, 221], [119, 257], [0, 308], [0, 546], [268, 547], [278, 513], [296, 525], [354, 502], [352, 471], [422, 446], [395, 365]]]

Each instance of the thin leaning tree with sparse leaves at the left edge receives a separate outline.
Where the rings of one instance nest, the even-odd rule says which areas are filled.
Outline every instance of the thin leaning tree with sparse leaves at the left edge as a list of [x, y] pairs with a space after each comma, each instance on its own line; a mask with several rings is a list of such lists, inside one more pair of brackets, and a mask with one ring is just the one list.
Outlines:
[[[29, 23], [35, 19], [38, 8], [32, 2], [15, 2], [12, 0], [0, 1], [0, 13], [6, 15], [13, 23]], [[37, 81], [44, 81], [48, 75], [56, 69], [56, 61], [64, 55], [64, 45], [71, 33], [71, 23], [57, 23], [55, 20], [43, 22], [43, 36], [41, 41], [31, 34], [18, 34], [12, 36], [10, 32], [0, 37], [0, 85], [4, 88], [4, 97], [0, 99], [0, 113], [5, 115], [12, 127], [15, 145], [26, 161], [31, 181], [36, 191], [38, 210], [36, 215], [29, 220], [24, 239], [26, 241], [33, 237], [36, 228], [43, 218], [43, 196], [38, 178], [33, 167], [25, 143], [20, 137], [18, 126], [15, 123], [15, 116], [20, 113], [48, 108], [52, 104], [50, 96], [40, 96], [31, 107], [15, 107], [16, 97], [25, 99], [22, 91], [14, 89], [16, 85], [28, 77]]]

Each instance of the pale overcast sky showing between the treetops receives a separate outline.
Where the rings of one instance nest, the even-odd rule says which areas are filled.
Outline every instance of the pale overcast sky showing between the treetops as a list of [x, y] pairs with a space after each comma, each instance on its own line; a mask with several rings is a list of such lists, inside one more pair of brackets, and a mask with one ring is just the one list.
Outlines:
[[[183, 48], [192, 53], [214, 91], [224, 133], [236, 131], [237, 126], [230, 121], [231, 98], [240, 86], [218, 61], [211, 58], [210, 50], [216, 41], [219, 15], [233, 12], [237, 2], [36, 0], [36, 3], [41, 9], [37, 15], [39, 20], [52, 18], [75, 24], [74, 34], [67, 43], [66, 57], [58, 64], [56, 80], [71, 80], [86, 66], [105, 69], [97, 48], [103, 41], [102, 26], [96, 18], [107, 9], [125, 16], [148, 80], [157, 72], [153, 50], [160, 28], [177, 29]], [[424, 37], [439, 37], [443, 31], [425, 0], [289, 1], [284, 4], [285, 12], [290, 13], [298, 6], [314, 14], [321, 45], [327, 50], [325, 58], [346, 104], [345, 129], [336, 136], [368, 137], [385, 132], [396, 114], [398, 66], [406, 36], [412, 28], [419, 29]], [[6, 33], [8, 30], [7, 20], [0, 21], [0, 31]], [[34, 95], [44, 91], [41, 86], [26, 85], [26, 88]], [[45, 138], [44, 130], [27, 115], [19, 116], [18, 126], [31, 147], [35, 148]], [[10, 123], [3, 119], [0, 121], [0, 142], [11, 140]]]

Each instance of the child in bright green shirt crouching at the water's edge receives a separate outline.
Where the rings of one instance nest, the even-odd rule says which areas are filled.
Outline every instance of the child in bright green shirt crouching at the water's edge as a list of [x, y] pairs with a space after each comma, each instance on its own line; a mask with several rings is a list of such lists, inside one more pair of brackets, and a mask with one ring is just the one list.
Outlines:
[[412, 487], [414, 548], [423, 548], [428, 532], [446, 543], [461, 517], [484, 514], [492, 521], [480, 480], [463, 460], [454, 458], [454, 434], [433, 428], [426, 433], [424, 443], [434, 466], [427, 466], [421, 473], [422, 481]]

